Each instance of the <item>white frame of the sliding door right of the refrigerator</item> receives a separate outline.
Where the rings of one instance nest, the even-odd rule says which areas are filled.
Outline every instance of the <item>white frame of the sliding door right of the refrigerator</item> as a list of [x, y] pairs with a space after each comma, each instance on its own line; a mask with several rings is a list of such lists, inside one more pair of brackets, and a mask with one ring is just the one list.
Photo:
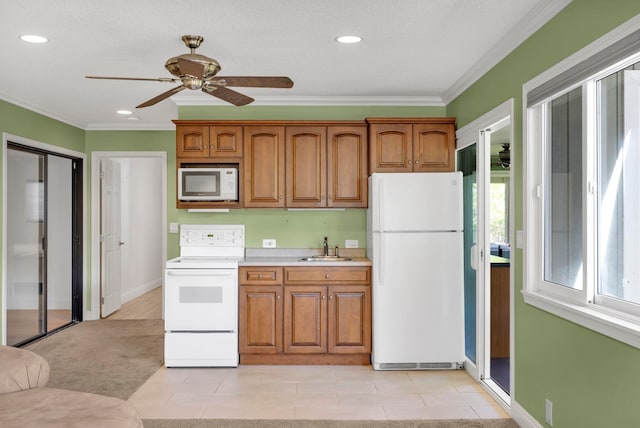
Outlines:
[[[485, 113], [464, 127], [460, 128], [456, 132], [457, 137], [457, 145], [456, 150], [463, 149], [473, 144], [477, 144], [477, 156], [478, 156], [478, 199], [482, 198], [483, 201], [487, 200], [488, 193], [488, 183], [490, 182], [490, 141], [484, 141], [485, 139], [485, 131], [492, 126], [503, 122], [506, 118], [509, 118], [511, 123], [511, 135], [510, 141], [513, 142], [514, 136], [514, 99], [511, 98], [499, 106], [495, 107], [491, 111]], [[511, 144], [511, 159], [514, 159], [515, 145]], [[482, 162], [483, 165], [480, 165]], [[514, 196], [514, 164], [511, 163], [511, 168], [509, 170], [510, 182], [509, 186], [509, 218], [511, 221], [509, 222], [509, 236], [515, 238], [515, 196]], [[486, 211], [486, 209], [484, 210]], [[488, 279], [490, 278], [490, 264], [489, 264], [489, 242], [488, 241], [488, 219], [485, 216], [484, 212], [478, 213], [478, 247], [482, 244], [481, 248], [484, 254], [482, 260], [482, 269], [479, 269], [477, 279], [476, 279], [476, 363], [472, 362], [468, 358], [465, 360], [465, 369], [474, 379], [478, 381], [483, 381], [482, 376], [484, 375], [484, 367], [489, 364], [489, 361], [486, 361], [486, 356], [488, 355], [489, 346], [489, 334], [490, 334], [490, 313], [486, 310], [487, 308], [487, 299], [489, 297], [488, 293], [485, 293], [485, 289], [490, 285]], [[515, 241], [515, 239], [514, 239]], [[517, 247], [516, 242], [512, 243], [512, 251], [511, 251], [511, 269], [509, 271], [509, 288], [510, 288], [510, 299], [509, 299], [509, 354], [510, 354], [510, 367], [509, 367], [509, 391], [510, 393], [507, 395], [496, 385], [495, 388], [487, 386], [488, 391], [494, 396], [494, 398], [498, 399], [498, 402], [504, 403], [506, 406], [510, 406], [510, 402], [513, 401], [513, 397], [515, 396], [515, 382], [514, 382], [514, 366], [515, 366], [515, 354], [514, 354], [514, 254], [515, 248]], [[481, 286], [483, 285], [484, 286]], [[489, 380], [489, 382], [492, 382]], [[483, 382], [483, 384], [486, 383]]]

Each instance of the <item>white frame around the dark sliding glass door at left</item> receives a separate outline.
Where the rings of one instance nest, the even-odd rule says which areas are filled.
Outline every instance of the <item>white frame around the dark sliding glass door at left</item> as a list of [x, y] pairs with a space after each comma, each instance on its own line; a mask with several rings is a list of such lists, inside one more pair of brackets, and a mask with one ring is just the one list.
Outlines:
[[[87, 268], [88, 268], [88, 254], [87, 251], [89, 249], [88, 242], [88, 221], [87, 221], [87, 162], [86, 162], [86, 154], [83, 152], [77, 152], [75, 150], [67, 149], [61, 146], [55, 146], [53, 144], [43, 143], [41, 141], [32, 140], [30, 138], [20, 137], [18, 135], [9, 134], [7, 132], [2, 133], [2, 233], [7, 230], [7, 145], [11, 141], [12, 143], [21, 144], [27, 147], [33, 147], [34, 149], [43, 150], [46, 152], [50, 152], [52, 154], [59, 154], [71, 158], [77, 158], [82, 160], [82, 278], [81, 287], [82, 287], [82, 308], [81, 308], [81, 319], [87, 319], [87, 299], [86, 296], [87, 291]], [[6, 305], [7, 305], [7, 240], [2, 237], [2, 307], [0, 308], [0, 317], [2, 317], [2, 329], [0, 330], [0, 344], [7, 343], [6, 330], [7, 330], [7, 319], [6, 319]]]

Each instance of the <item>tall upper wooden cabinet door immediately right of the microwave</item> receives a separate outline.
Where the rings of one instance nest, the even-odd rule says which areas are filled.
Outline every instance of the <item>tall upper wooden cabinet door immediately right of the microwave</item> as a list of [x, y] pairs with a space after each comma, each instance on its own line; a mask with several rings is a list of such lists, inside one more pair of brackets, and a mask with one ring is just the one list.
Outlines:
[[244, 127], [244, 206], [284, 207], [284, 127]]

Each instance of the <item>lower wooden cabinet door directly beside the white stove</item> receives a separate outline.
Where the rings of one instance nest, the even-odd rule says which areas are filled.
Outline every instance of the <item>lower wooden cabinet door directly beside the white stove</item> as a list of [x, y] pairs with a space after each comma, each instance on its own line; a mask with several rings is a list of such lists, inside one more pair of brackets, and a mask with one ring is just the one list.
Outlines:
[[238, 325], [241, 354], [281, 353], [282, 286], [241, 286]]

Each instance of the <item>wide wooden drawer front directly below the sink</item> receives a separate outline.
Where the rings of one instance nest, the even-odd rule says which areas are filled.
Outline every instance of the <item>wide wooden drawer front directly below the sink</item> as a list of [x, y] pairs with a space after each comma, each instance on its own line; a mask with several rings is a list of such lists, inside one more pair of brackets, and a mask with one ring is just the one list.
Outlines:
[[370, 268], [353, 267], [287, 267], [285, 284], [354, 284], [370, 283]]

